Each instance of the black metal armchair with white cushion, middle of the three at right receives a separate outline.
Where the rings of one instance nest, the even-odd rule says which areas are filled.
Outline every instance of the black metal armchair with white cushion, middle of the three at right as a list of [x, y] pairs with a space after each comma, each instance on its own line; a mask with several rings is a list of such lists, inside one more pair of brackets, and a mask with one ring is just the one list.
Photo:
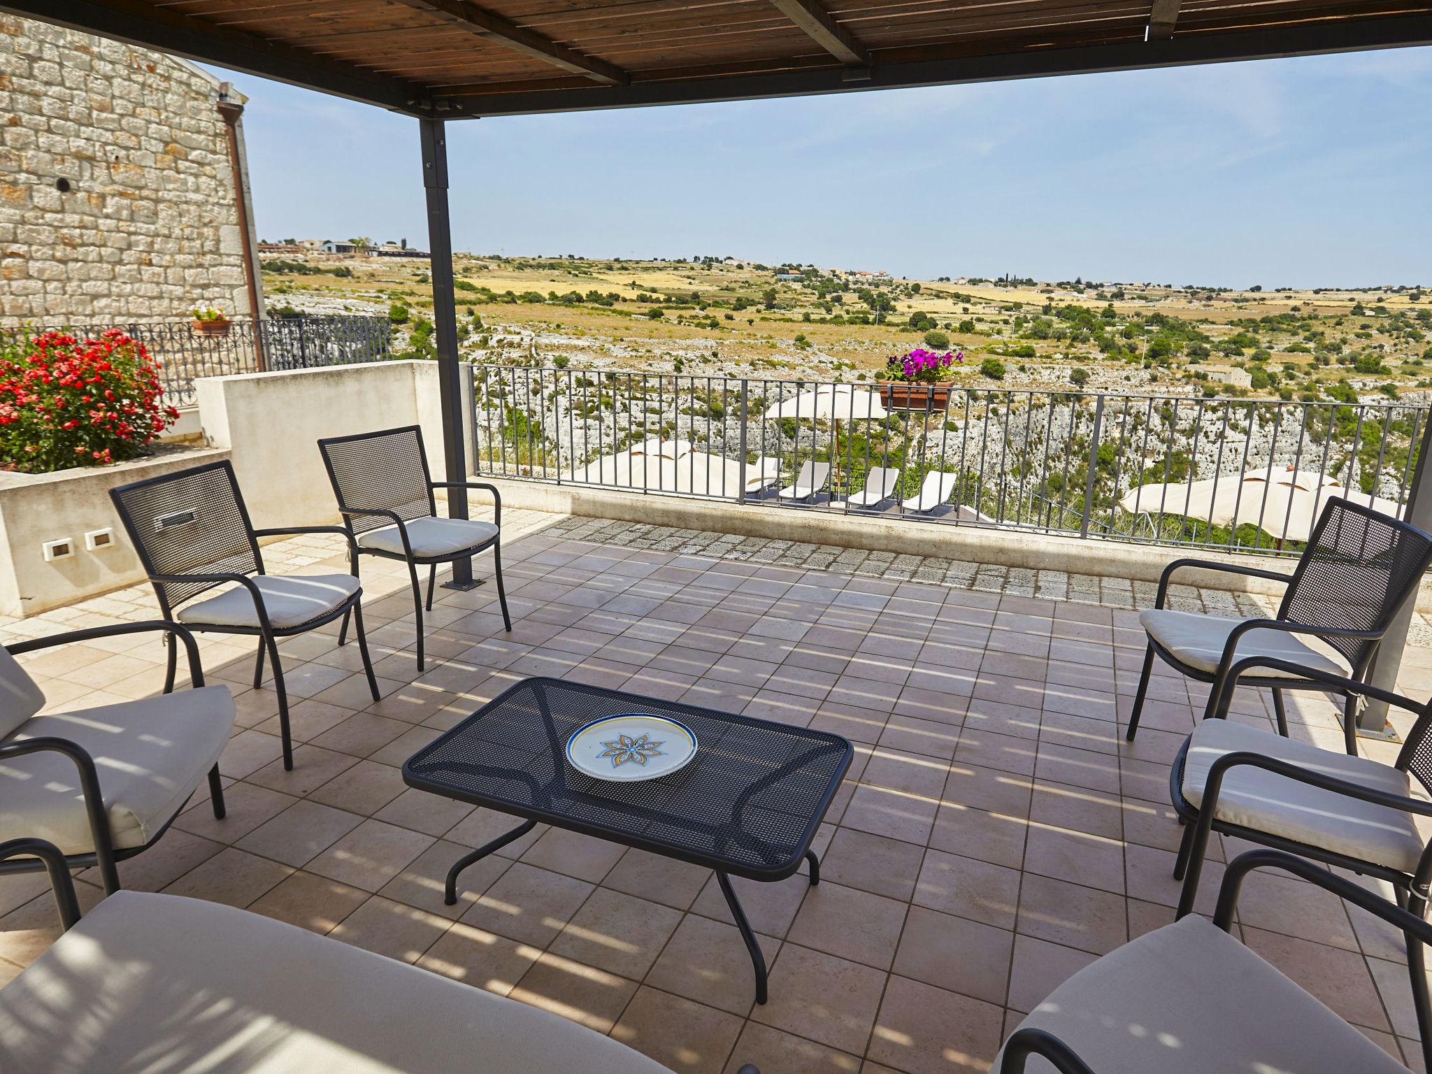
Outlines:
[[[1296, 673], [1327, 692], [1385, 702], [1416, 713], [1416, 723], [1398, 759], [1383, 765], [1229, 720], [1239, 682], [1269, 672]], [[1260, 657], [1239, 660], [1211, 700], [1210, 719], [1183, 743], [1169, 779], [1184, 825], [1174, 863], [1174, 878], [1183, 879], [1179, 916], [1193, 909], [1209, 835], [1221, 832], [1388, 881], [1399, 905], [1425, 918], [1432, 843], [1416, 818], [1432, 818], [1432, 702], [1418, 705], [1369, 683]], [[1432, 1024], [1423, 1021], [1422, 955], [1421, 944], [1408, 944], [1422, 1040], [1432, 1044]]]

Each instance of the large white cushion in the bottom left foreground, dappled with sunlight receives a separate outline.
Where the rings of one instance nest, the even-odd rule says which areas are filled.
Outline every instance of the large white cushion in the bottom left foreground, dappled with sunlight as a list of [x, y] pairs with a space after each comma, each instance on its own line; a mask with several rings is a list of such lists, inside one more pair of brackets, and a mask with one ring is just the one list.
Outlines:
[[670, 1074], [468, 981], [232, 906], [120, 891], [0, 990], [0, 1070]]

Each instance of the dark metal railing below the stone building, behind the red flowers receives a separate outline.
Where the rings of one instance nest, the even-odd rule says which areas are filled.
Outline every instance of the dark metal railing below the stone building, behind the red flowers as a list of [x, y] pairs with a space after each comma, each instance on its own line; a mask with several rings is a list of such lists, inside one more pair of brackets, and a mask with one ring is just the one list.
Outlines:
[[[266, 369], [312, 369], [321, 365], [375, 362], [392, 357], [392, 325], [385, 316], [233, 318], [228, 331], [205, 334], [189, 321], [64, 325], [57, 331], [80, 338], [120, 328], [159, 362], [165, 402], [195, 402], [199, 377]], [[47, 328], [0, 329], [0, 341], [21, 341]]]

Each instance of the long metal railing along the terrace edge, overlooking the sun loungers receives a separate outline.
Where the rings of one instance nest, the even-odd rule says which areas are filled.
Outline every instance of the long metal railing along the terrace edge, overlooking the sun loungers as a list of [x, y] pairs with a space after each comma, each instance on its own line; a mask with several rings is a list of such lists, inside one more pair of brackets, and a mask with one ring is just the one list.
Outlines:
[[1428, 421], [1399, 402], [491, 365], [473, 398], [473, 461], [498, 477], [1273, 554], [1332, 495], [1403, 514]]

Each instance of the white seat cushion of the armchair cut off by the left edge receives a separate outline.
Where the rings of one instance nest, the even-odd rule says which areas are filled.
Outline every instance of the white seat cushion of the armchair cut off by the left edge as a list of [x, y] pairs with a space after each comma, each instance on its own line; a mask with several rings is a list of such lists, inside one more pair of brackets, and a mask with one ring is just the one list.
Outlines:
[[[139, 702], [36, 716], [7, 742], [37, 737], [80, 745], [99, 772], [116, 848], [143, 846], [179, 812], [219, 760], [233, 729], [228, 686], [179, 690]], [[49, 839], [64, 853], [92, 853], [80, 776], [63, 753], [0, 760], [0, 842]]]

